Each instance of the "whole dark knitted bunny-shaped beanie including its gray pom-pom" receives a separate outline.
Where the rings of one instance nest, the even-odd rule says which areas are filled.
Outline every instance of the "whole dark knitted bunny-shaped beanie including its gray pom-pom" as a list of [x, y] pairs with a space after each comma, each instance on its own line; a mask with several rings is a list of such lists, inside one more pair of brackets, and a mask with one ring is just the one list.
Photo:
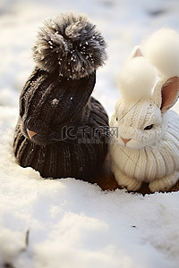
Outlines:
[[39, 30], [33, 58], [14, 135], [18, 163], [44, 178], [92, 180], [107, 155], [107, 113], [90, 96], [106, 43], [84, 15], [64, 14]]

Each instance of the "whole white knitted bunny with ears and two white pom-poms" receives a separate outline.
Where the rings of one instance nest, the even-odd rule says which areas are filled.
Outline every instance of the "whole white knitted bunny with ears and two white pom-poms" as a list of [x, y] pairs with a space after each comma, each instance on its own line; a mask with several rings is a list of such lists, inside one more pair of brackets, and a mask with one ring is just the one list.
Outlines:
[[165, 191], [179, 180], [179, 115], [170, 110], [179, 93], [179, 34], [159, 29], [142, 48], [145, 57], [135, 48], [118, 77], [112, 172], [128, 190], [145, 181], [152, 192]]

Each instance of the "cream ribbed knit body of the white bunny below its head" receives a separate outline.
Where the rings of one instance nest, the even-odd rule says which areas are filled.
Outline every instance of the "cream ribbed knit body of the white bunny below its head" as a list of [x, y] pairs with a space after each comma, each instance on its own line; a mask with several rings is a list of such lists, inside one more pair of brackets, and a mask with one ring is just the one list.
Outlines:
[[136, 190], [146, 181], [151, 191], [175, 185], [179, 179], [179, 123], [175, 112], [168, 111], [167, 117], [164, 136], [151, 147], [133, 150], [110, 144], [112, 170], [119, 185]]

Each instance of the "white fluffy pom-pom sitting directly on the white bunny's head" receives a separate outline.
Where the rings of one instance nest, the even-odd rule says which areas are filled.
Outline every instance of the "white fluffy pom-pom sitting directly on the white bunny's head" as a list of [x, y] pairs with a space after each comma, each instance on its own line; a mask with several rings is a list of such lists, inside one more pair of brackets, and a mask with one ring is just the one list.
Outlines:
[[125, 100], [149, 98], [155, 85], [156, 72], [143, 57], [132, 58], [125, 63], [117, 82]]

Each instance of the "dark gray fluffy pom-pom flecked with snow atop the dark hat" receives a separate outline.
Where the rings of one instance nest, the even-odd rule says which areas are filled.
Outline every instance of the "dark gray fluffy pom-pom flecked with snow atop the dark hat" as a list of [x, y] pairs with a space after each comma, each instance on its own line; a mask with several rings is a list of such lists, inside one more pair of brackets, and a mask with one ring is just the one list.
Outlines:
[[45, 21], [32, 47], [40, 69], [78, 80], [107, 60], [107, 44], [84, 15], [67, 13]]

